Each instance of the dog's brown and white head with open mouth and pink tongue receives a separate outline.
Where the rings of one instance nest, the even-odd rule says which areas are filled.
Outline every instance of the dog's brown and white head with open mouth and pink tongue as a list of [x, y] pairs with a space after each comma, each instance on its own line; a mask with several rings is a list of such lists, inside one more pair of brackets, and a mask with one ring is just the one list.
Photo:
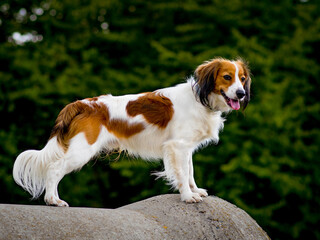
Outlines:
[[[205, 62], [195, 71], [194, 89], [199, 101], [210, 109], [244, 110], [250, 101], [250, 70], [242, 60], [229, 61], [221, 58]], [[216, 95], [219, 103], [210, 98]], [[222, 102], [222, 103], [221, 103]]]

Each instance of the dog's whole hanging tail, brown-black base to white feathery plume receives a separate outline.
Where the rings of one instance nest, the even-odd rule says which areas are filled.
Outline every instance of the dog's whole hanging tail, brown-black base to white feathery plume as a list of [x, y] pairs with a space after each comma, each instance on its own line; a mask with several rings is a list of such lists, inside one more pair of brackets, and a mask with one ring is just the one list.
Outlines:
[[17, 157], [13, 166], [13, 178], [33, 199], [38, 198], [45, 189], [50, 162], [62, 159], [67, 152], [70, 137], [75, 135], [70, 125], [85, 107], [81, 101], [68, 104], [60, 112], [47, 145], [42, 150], [28, 150]]

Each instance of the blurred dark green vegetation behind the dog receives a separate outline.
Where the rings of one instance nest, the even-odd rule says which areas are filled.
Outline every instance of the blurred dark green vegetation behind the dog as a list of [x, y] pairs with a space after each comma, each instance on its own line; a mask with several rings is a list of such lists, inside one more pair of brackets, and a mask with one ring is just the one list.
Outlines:
[[[320, 2], [3, 0], [1, 203], [30, 202], [16, 156], [42, 148], [64, 105], [184, 81], [216, 56], [250, 62], [252, 101], [218, 146], [195, 154], [198, 185], [247, 211], [272, 239], [320, 239]], [[150, 139], [152, 141], [152, 139]], [[170, 189], [160, 163], [103, 156], [66, 176], [71, 206], [113, 208]]]

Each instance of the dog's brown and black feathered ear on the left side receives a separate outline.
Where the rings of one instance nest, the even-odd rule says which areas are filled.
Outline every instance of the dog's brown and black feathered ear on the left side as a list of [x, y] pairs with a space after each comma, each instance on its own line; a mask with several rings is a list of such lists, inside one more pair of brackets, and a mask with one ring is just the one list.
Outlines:
[[205, 62], [195, 70], [194, 90], [202, 105], [211, 108], [208, 96], [215, 88], [215, 79], [218, 75], [221, 60], [214, 59]]

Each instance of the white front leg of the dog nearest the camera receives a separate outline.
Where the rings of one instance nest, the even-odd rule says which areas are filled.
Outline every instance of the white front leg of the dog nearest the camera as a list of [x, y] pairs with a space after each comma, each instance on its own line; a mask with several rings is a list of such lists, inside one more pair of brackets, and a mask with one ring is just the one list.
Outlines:
[[[202, 201], [199, 193], [192, 192], [189, 184], [189, 159], [192, 149], [183, 140], [171, 140], [164, 145], [164, 167], [166, 178], [179, 190], [181, 201]], [[192, 170], [193, 171], [193, 170]]]

